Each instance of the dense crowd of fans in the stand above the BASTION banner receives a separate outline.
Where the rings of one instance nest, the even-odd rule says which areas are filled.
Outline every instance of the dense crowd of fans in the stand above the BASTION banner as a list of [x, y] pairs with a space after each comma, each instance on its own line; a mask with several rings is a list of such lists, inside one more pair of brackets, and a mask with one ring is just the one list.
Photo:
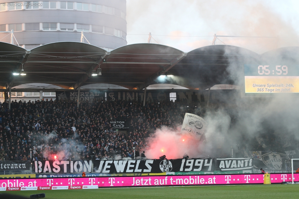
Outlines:
[[[200, 102], [75, 101], [0, 103], [0, 160], [91, 160], [138, 157], [161, 126], [176, 128]], [[126, 133], [112, 121], [124, 121]], [[121, 131], [116, 131], [121, 130]], [[30, 157], [32, 154], [32, 157]]]

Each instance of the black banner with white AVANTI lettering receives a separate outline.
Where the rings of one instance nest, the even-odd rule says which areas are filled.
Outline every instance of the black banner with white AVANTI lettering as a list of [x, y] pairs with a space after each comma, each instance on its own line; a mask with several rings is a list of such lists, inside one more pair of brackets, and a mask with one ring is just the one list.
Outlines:
[[220, 171], [252, 170], [251, 158], [217, 158], [217, 166]]

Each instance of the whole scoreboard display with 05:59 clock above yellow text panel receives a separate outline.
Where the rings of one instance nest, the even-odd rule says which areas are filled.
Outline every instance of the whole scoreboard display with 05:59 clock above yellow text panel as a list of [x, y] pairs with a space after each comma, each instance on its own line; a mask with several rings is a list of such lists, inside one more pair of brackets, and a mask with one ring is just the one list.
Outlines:
[[245, 93], [299, 93], [299, 65], [244, 65]]

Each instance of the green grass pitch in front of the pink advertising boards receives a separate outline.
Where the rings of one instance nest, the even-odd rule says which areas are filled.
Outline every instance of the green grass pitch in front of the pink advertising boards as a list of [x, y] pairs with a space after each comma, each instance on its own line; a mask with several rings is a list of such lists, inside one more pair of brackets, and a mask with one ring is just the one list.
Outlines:
[[[3, 192], [2, 192], [3, 193]], [[29, 197], [46, 193], [45, 199], [143, 199], [143, 198], [298, 198], [299, 185], [229, 185], [229, 186], [176, 186], [142, 188], [100, 188], [89, 190], [6, 191]], [[1, 198], [1, 194], [0, 194]]]

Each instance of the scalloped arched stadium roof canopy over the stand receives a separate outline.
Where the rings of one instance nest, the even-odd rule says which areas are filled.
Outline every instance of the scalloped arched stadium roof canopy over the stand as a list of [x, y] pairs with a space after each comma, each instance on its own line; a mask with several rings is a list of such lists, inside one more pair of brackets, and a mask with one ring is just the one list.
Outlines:
[[[55, 42], [25, 50], [0, 42], [0, 89], [30, 83], [52, 84], [65, 89], [86, 85], [114, 84], [118, 88], [143, 89], [152, 84], [176, 84], [204, 90], [216, 84], [235, 84], [230, 65], [261, 63], [271, 57], [291, 60], [298, 47], [288, 47], [262, 55], [237, 46], [205, 46], [189, 53], [160, 44], [142, 43], [107, 52], [81, 42]], [[24, 68], [25, 76], [13, 71]], [[101, 68], [101, 76], [91, 76]], [[161, 78], [160, 75], [173, 75]], [[117, 88], [117, 87], [116, 87]]]

